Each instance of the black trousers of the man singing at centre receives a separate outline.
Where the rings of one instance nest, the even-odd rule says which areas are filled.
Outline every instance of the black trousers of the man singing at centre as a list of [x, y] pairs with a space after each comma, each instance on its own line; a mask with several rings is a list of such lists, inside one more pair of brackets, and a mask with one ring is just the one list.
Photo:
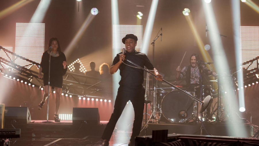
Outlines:
[[119, 120], [119, 117], [121, 116], [121, 113], [129, 100], [132, 102], [135, 113], [132, 136], [130, 138], [130, 141], [132, 141], [133, 143], [135, 142], [134, 138], [139, 135], [143, 120], [145, 89], [142, 85], [119, 87], [114, 104], [114, 110], [108, 124], [104, 129], [102, 139], [110, 140], [115, 125]]

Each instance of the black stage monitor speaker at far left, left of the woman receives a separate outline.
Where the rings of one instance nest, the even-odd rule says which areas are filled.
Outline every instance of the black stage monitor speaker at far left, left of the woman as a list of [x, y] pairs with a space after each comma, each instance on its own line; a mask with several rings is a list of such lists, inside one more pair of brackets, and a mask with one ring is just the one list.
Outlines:
[[31, 114], [28, 107], [5, 107], [5, 124], [31, 123]]

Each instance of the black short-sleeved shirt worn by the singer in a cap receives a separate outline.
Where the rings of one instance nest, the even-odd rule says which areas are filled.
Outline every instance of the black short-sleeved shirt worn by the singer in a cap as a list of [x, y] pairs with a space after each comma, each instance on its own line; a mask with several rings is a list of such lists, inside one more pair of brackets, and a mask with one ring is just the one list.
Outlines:
[[[120, 59], [120, 54], [117, 54], [117, 56], [113, 60], [113, 65], [117, 64]], [[155, 67], [151, 64], [148, 57], [144, 53], [137, 52], [136, 50], [129, 53], [125, 52], [125, 59], [128, 59], [137, 65], [144, 68], [144, 66], [148, 70], [153, 70]], [[125, 64], [127, 65], [125, 65]], [[139, 86], [143, 84], [144, 82], [144, 71], [142, 69], [135, 68], [135, 65], [128, 61], [124, 61], [119, 67], [120, 75], [121, 75], [121, 81], [119, 82], [119, 85], [127, 85], [127, 86]], [[134, 67], [130, 67], [130, 66]]]

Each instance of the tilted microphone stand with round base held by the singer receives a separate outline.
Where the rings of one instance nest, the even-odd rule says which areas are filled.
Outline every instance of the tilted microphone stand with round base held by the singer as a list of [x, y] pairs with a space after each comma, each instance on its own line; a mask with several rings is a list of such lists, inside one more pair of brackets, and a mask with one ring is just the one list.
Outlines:
[[[125, 59], [125, 60], [128, 61], [128, 62], [130, 62], [130, 63], [132, 63], [133, 65], [139, 67], [139, 68], [142, 69], [143, 71], [148, 72], [149, 74], [153, 75], [154, 77], [157, 77], [155, 74], [151, 73], [150, 71], [147, 71], [147, 70], [144, 69], [143, 67], [140, 67], [140, 66], [137, 65], [136, 63], [134, 63], [134, 62], [132, 62], [132, 61], [130, 61], [130, 60], [127, 60], [127, 59]], [[210, 96], [210, 95], [208, 95], [206, 98], [204, 98], [203, 101], [201, 101], [201, 100], [195, 98], [194, 96], [190, 95], [188, 92], [186, 93], [186, 91], [184, 91], [184, 90], [182, 90], [182, 89], [180, 89], [180, 88], [174, 86], [173, 84], [169, 83], [168, 81], [166, 81], [166, 80], [164, 80], [164, 79], [163, 79], [162, 81], [165, 82], [166, 84], [168, 84], [168, 85], [170, 85], [170, 86], [172, 86], [172, 87], [178, 89], [180, 92], [183, 92], [184, 94], [187, 94], [188, 96], [190, 96], [191, 98], [193, 98], [195, 101], [198, 101], [199, 103], [201, 103], [201, 107], [200, 107], [200, 109], [199, 109], [199, 113], [203, 113], [203, 112], [205, 111], [205, 109], [208, 107], [208, 104], [209, 104], [209, 102], [210, 102], [210, 100], [211, 100], [211, 96]]]

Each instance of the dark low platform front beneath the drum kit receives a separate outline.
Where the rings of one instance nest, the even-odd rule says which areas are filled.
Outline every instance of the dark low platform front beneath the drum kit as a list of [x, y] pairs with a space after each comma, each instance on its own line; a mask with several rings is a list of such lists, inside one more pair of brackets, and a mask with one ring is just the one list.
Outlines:
[[[208, 133], [214, 136], [251, 137], [253, 128], [249, 124], [203, 123]], [[152, 135], [152, 130], [168, 130], [168, 134], [201, 135], [201, 123], [194, 124], [148, 124], [140, 136]], [[202, 135], [210, 135], [203, 129]]]

